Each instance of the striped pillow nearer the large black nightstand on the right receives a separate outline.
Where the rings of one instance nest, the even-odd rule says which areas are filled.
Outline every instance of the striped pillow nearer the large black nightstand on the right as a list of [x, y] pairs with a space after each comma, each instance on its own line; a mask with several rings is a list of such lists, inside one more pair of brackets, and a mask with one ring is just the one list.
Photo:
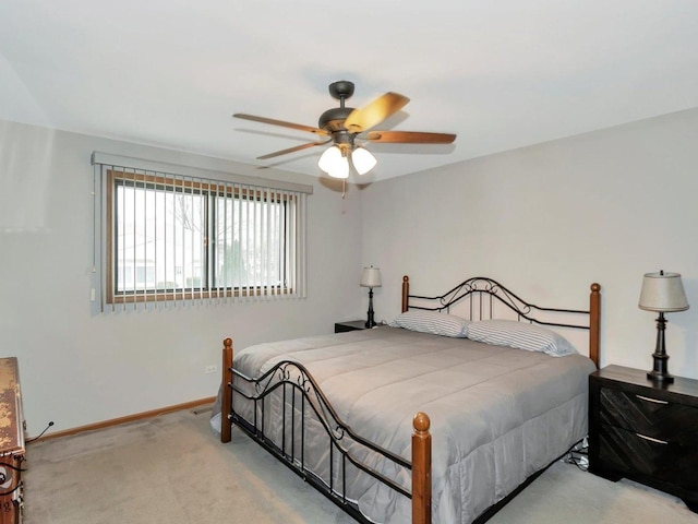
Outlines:
[[554, 357], [574, 355], [577, 349], [564, 336], [541, 325], [515, 320], [481, 320], [468, 326], [468, 338], [486, 344], [540, 352]]

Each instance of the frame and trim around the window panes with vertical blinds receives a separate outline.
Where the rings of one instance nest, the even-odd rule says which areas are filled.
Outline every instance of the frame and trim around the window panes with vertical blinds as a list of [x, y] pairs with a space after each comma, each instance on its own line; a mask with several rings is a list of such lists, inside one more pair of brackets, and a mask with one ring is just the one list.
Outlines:
[[[107, 162], [120, 160], [118, 163], [108, 164]], [[305, 195], [312, 194], [312, 186], [296, 184], [264, 178], [252, 178], [222, 174], [210, 169], [193, 168], [191, 166], [173, 166], [170, 164], [153, 163], [149, 160], [134, 159], [130, 157], [117, 157], [104, 153], [94, 152], [92, 157], [95, 167], [95, 254], [93, 258], [93, 281], [92, 301], [101, 305], [101, 311], [121, 309], [134, 309], [139, 306], [145, 306], [146, 309], [152, 305], [165, 305], [170, 307], [172, 302], [181, 301], [228, 301], [228, 300], [250, 300], [250, 299], [272, 299], [272, 298], [304, 298], [305, 297]], [[124, 165], [131, 164], [131, 165]], [[136, 165], [137, 164], [137, 165]], [[154, 167], [168, 167], [168, 171], [152, 170]], [[144, 172], [145, 171], [145, 172]], [[172, 172], [176, 171], [176, 172]], [[212, 174], [220, 175], [219, 179], [210, 178]], [[196, 180], [186, 180], [186, 177], [193, 177]], [[127, 293], [117, 293], [115, 283], [116, 263], [113, 257], [116, 245], [116, 210], [115, 207], [115, 190], [118, 179], [144, 184], [161, 184], [165, 187], [179, 187], [188, 190], [196, 190], [209, 193], [207, 199], [216, 199], [218, 195], [248, 199], [275, 199], [279, 202], [285, 201], [286, 205], [293, 204], [297, 206], [294, 211], [294, 223], [287, 224], [285, 221], [285, 238], [293, 243], [287, 247], [286, 252], [290, 250], [293, 260], [287, 260], [288, 254], [284, 257], [282, 264], [290, 263], [290, 267], [284, 271], [293, 272], [290, 281], [285, 286], [280, 285], [231, 285], [226, 287], [216, 287], [214, 282], [207, 278], [206, 286], [198, 287], [181, 287], [169, 289], [136, 289]], [[204, 180], [202, 180], [204, 179]], [[249, 184], [245, 182], [254, 181]], [[267, 183], [268, 182], [268, 183]], [[292, 191], [298, 191], [294, 193]], [[215, 193], [215, 194], [210, 194]], [[238, 196], [242, 195], [242, 196]], [[214, 211], [208, 211], [205, 215], [207, 227], [214, 227], [212, 218]], [[100, 218], [101, 217], [101, 218]], [[99, 226], [101, 222], [101, 226]], [[292, 228], [291, 233], [289, 228]], [[289, 240], [290, 239], [290, 240]], [[209, 260], [212, 249], [209, 249], [208, 238], [204, 239], [206, 246], [206, 269], [205, 273], [210, 271]], [[215, 254], [214, 254], [215, 257]], [[104, 261], [104, 264], [100, 263]], [[284, 278], [284, 274], [281, 277]], [[99, 297], [97, 297], [97, 294]]]

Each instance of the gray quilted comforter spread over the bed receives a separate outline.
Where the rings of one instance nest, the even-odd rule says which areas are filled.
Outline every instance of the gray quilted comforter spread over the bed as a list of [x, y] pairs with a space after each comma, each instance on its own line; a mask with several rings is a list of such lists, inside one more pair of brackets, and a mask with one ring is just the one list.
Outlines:
[[[358, 433], [407, 458], [412, 417], [430, 416], [434, 524], [470, 523], [587, 433], [587, 380], [594, 367], [581, 355], [551, 357], [378, 327], [249, 347], [236, 355], [234, 367], [258, 377], [286, 359], [311, 371]], [[251, 404], [239, 395], [233, 402], [252, 420]], [[273, 420], [289, 407], [280, 395], [269, 405], [265, 431], [280, 445], [281, 429]], [[304, 462], [329, 483], [327, 442], [310, 421]], [[410, 486], [409, 472], [348, 446]], [[352, 468], [347, 495], [374, 522], [410, 522], [409, 499]]]

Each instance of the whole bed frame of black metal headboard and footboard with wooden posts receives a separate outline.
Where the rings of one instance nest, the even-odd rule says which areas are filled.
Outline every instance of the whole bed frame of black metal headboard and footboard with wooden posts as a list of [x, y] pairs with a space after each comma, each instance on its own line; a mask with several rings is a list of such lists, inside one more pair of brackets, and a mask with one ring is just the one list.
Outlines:
[[[498, 282], [486, 277], [473, 277], [464, 281], [449, 291], [434, 297], [410, 295], [409, 278], [402, 279], [402, 311], [408, 309], [425, 309], [448, 312], [456, 302], [470, 300], [467, 306], [471, 310], [471, 319], [492, 318], [493, 303], [504, 305], [519, 319], [543, 325], [576, 327], [589, 330], [589, 355], [594, 364], [599, 364], [599, 318], [600, 318], [599, 284], [591, 285], [590, 308], [587, 311], [574, 309], [541, 308], [526, 302]], [[473, 300], [474, 298], [474, 300]], [[432, 302], [433, 305], [430, 305]], [[589, 323], [566, 323], [542, 320], [539, 312], [546, 313], [580, 313], [587, 315]], [[411, 460], [384, 449], [358, 434], [336, 413], [329, 400], [325, 396], [315, 379], [300, 362], [282, 360], [274, 365], [260, 377], [248, 377], [236, 369], [233, 362], [232, 340], [224, 341], [224, 386], [221, 398], [221, 434], [222, 442], [231, 440], [231, 425], [236, 424], [252, 437], [268, 452], [290, 467], [294, 473], [311, 484], [315, 489], [328, 497], [333, 502], [362, 523], [371, 522], [358, 509], [358, 505], [347, 498], [347, 463], [377, 479], [388, 488], [411, 499], [412, 523], [431, 523], [432, 505], [432, 469], [431, 469], [431, 434], [430, 419], [423, 413], [417, 413], [413, 418], [413, 433], [411, 439]], [[280, 390], [280, 391], [279, 391]], [[275, 395], [272, 398], [270, 395]], [[234, 408], [234, 395], [241, 395], [252, 402], [252, 416], [245, 418]], [[281, 406], [280, 439], [278, 434], [272, 438], [265, 432], [265, 414], [269, 402], [279, 402]], [[329, 441], [328, 481], [306, 467], [305, 430], [306, 414], [313, 424], [320, 424]], [[314, 415], [314, 417], [312, 417]], [[288, 419], [287, 419], [288, 417]], [[278, 426], [276, 427], [278, 432]], [[287, 432], [290, 431], [290, 437]], [[358, 448], [357, 448], [358, 445]], [[358, 451], [358, 453], [357, 453]], [[337, 455], [338, 453], [338, 455]], [[376, 456], [388, 461], [396, 468], [411, 472], [411, 487], [408, 489], [395, 478], [389, 478], [369, 465], [368, 461], [358, 455]], [[337, 468], [337, 469], [335, 469]], [[405, 480], [405, 479], [402, 479]], [[486, 519], [485, 519], [486, 520]]]

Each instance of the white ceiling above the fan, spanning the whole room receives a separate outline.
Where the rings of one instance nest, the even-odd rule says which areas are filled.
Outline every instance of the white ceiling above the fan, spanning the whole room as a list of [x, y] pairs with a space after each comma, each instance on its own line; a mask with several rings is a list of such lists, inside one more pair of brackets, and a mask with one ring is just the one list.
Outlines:
[[[0, 118], [320, 175], [321, 147], [261, 162], [348, 106], [411, 102], [366, 181], [698, 107], [695, 0], [3, 0]], [[0, 148], [0, 153], [1, 153]], [[261, 171], [262, 172], [262, 171]]]

